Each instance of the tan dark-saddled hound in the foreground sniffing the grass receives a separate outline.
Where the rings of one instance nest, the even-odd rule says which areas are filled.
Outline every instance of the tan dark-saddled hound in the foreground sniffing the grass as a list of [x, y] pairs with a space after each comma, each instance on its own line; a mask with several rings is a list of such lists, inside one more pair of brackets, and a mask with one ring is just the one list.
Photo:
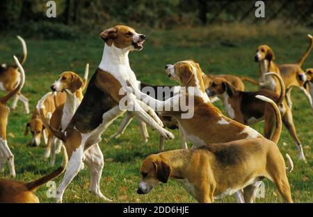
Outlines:
[[245, 202], [253, 202], [255, 185], [266, 177], [286, 202], [293, 202], [286, 175], [293, 168], [289, 155], [287, 162], [288, 168], [278, 146], [265, 138], [170, 150], [145, 158], [137, 193], [149, 193], [159, 182], [173, 178], [198, 202], [214, 202], [239, 189], [244, 189]]

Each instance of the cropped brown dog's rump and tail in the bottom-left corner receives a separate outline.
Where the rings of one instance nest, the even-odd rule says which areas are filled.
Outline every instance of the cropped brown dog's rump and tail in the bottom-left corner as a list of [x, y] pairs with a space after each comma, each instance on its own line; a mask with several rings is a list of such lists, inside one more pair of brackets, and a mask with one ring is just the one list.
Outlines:
[[67, 166], [67, 153], [65, 147], [64, 157], [62, 165], [56, 169], [56, 171], [40, 177], [38, 180], [32, 182], [24, 183], [16, 180], [8, 180], [0, 178], [0, 203], [35, 203], [40, 202], [39, 198], [35, 196], [35, 190], [39, 186], [49, 182], [50, 180], [58, 177], [65, 171]]

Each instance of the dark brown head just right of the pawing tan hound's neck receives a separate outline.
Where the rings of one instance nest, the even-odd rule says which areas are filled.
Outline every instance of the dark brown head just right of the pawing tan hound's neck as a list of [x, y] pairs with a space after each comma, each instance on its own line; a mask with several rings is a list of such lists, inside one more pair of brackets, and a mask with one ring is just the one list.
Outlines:
[[234, 89], [225, 78], [213, 78], [206, 92], [208, 96], [220, 96], [225, 92], [227, 92], [227, 95], [230, 97], [234, 95]]

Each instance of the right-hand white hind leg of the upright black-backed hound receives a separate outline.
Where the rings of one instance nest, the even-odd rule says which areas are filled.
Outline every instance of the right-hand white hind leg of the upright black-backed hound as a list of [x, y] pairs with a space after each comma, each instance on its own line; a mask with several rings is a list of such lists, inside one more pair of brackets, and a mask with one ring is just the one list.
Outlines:
[[86, 164], [89, 168], [90, 173], [90, 186], [89, 191], [94, 193], [99, 198], [102, 198], [106, 201], [112, 201], [109, 198], [106, 198], [100, 190], [100, 179], [102, 175], [102, 169], [104, 166], [104, 158], [102, 151], [99, 148], [98, 144], [91, 146], [85, 153], [85, 160]]

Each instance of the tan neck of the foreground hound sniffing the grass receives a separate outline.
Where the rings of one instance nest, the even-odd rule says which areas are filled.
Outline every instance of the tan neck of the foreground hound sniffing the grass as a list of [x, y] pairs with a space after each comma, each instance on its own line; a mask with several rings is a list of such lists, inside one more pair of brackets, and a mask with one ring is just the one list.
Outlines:
[[172, 168], [170, 177], [175, 179], [186, 178], [186, 168], [190, 163], [190, 150], [170, 150], [161, 153], [162, 157], [166, 159], [168, 166]]

